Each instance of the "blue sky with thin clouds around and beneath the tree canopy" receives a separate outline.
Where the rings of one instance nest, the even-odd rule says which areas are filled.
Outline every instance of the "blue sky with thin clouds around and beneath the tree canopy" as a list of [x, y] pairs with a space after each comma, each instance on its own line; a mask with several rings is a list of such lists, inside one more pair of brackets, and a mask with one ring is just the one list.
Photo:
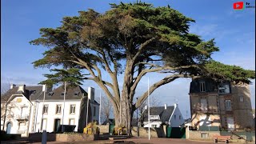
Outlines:
[[[34, 69], [31, 62], [42, 58], [46, 50], [42, 46], [31, 46], [29, 42], [38, 38], [42, 27], [60, 26], [62, 17], [78, 15], [78, 11], [94, 9], [104, 12], [110, 9], [108, 3], [118, 3], [118, 0], [89, 1], [89, 0], [2, 0], [1, 1], [1, 80], [14, 84], [36, 85], [44, 80], [42, 74], [47, 69]], [[136, 2], [122, 1], [122, 2]], [[170, 1], [144, 0], [154, 6], [167, 6], [180, 11], [187, 17], [194, 18], [190, 32], [201, 35], [203, 39], [215, 38], [220, 52], [213, 58], [219, 62], [242, 66], [255, 70], [255, 8], [233, 10], [236, 1]], [[255, 1], [248, 0], [250, 6]], [[157, 82], [155, 74], [150, 74], [150, 83]], [[190, 111], [189, 85], [190, 79], [180, 79], [162, 86], [153, 93], [162, 103], [172, 105], [174, 98], [178, 99], [180, 109], [186, 118], [186, 110]], [[142, 94], [147, 86], [146, 78], [139, 84], [136, 96]], [[255, 108], [255, 80], [250, 86], [252, 107]], [[98, 86], [85, 82], [83, 87]], [[96, 93], [97, 94], [97, 93]], [[189, 112], [190, 114], [190, 112]], [[188, 114], [188, 115], [189, 115]]]

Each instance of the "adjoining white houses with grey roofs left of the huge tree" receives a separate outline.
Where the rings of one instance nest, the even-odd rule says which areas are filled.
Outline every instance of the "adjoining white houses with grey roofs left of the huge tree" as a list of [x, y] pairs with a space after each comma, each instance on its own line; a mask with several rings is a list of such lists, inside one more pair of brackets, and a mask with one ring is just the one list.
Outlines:
[[75, 125], [74, 131], [82, 132], [86, 122], [98, 122], [99, 104], [94, 100], [94, 88], [89, 87], [88, 94], [81, 86], [66, 89], [65, 102], [63, 86], [44, 90], [44, 86], [12, 85], [1, 98], [1, 130], [26, 137], [42, 130], [54, 132], [62, 123]]

